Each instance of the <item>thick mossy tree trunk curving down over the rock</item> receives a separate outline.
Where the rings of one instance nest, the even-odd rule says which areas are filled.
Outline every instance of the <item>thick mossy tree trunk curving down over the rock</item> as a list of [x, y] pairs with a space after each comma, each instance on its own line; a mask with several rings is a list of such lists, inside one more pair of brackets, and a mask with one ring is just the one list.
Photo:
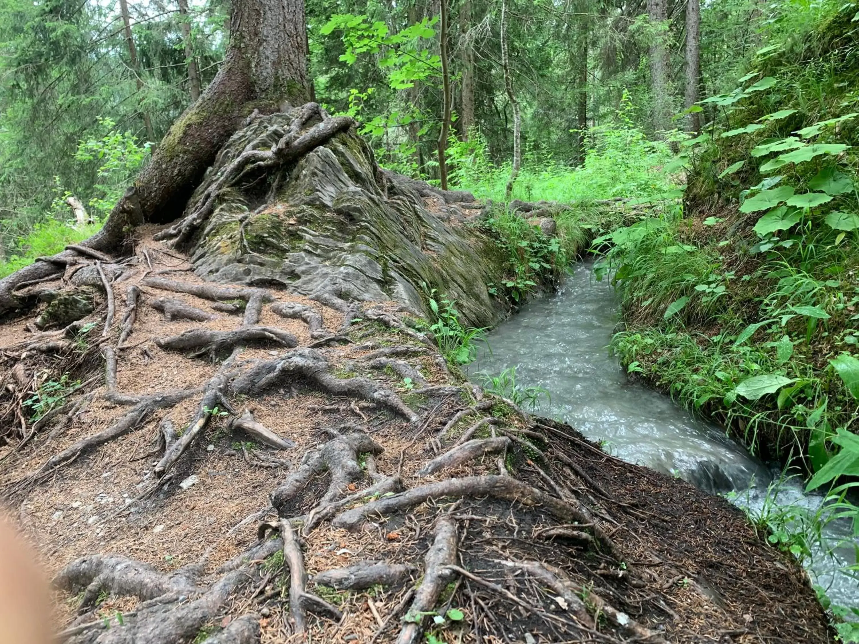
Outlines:
[[[254, 109], [277, 112], [284, 101], [310, 99], [302, 0], [234, 0], [230, 25], [227, 55], [214, 80], [170, 127], [104, 228], [82, 246], [125, 252], [137, 225], [181, 214], [218, 150]], [[18, 284], [52, 275], [61, 265], [36, 262], [0, 280], [0, 314], [19, 306]]]

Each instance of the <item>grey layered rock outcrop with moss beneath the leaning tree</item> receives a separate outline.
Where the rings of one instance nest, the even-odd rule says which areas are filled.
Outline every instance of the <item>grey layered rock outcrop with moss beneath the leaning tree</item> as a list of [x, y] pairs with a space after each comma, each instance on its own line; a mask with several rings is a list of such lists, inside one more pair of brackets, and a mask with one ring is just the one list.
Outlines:
[[[243, 151], [275, 145], [289, 118], [259, 118], [236, 134], [197, 198]], [[501, 258], [470, 225], [481, 213], [471, 194], [380, 171], [353, 131], [265, 176], [247, 174], [222, 191], [192, 241], [198, 276], [311, 297], [396, 301], [417, 311], [422, 290], [438, 289], [470, 325], [503, 316], [486, 289], [498, 279]]]

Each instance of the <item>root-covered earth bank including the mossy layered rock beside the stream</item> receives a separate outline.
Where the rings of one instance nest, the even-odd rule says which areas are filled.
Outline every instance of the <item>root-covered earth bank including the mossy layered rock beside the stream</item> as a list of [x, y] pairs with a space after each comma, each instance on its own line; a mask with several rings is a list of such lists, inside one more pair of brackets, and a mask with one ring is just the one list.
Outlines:
[[323, 117], [256, 120], [181, 222], [16, 291], [3, 490], [62, 638], [828, 641], [726, 501], [449, 372], [421, 283], [503, 317], [480, 209]]

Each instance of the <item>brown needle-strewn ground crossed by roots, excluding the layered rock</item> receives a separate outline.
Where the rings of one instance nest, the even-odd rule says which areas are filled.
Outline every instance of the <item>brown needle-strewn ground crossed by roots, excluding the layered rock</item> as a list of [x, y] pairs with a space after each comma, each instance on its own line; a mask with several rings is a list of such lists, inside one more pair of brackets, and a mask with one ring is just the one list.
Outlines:
[[[55, 619], [67, 641], [126, 641], [130, 628], [133, 641], [253, 641], [218, 639], [248, 623], [250, 631], [259, 623], [263, 642], [423, 641], [422, 621], [427, 641], [448, 642], [830, 640], [804, 572], [727, 501], [465, 383], [391, 303], [343, 312], [267, 289], [271, 301], [254, 313], [253, 297], [242, 310], [238, 296], [213, 302], [184, 292], [185, 307], [216, 317], [164, 319], [153, 299], [212, 285], [153, 232], [139, 231], [136, 255], [111, 284], [141, 292], [125, 342], [114, 342], [110, 326], [101, 335], [103, 295], [82, 320], [94, 325], [82, 334], [78, 323], [72, 339], [34, 333], [40, 310], [0, 327], [7, 418], [29, 414], [20, 389], [8, 395], [15, 373], [26, 374], [19, 387], [40, 383], [27, 396], [69, 376], [52, 422], [25, 420], [34, 431], [25, 445], [9, 428], [0, 453], [3, 489], [57, 580]], [[30, 288], [65, 287], [61, 278]], [[320, 314], [307, 318], [320, 328], [277, 315], [278, 305]], [[234, 358], [218, 359], [226, 345], [212, 349], [215, 359], [208, 350], [190, 357], [164, 339], [247, 325], [285, 331], [296, 346], [278, 346], [291, 342], [275, 331], [242, 344], [231, 388], [216, 405], [201, 403], [202, 387]], [[314, 365], [289, 375], [284, 365], [308, 351]], [[236, 386], [272, 362], [285, 377]], [[164, 391], [191, 393], [112, 440], [80, 442], [104, 437], [130, 405]], [[295, 447], [263, 447], [231, 428], [233, 412], [246, 408]], [[197, 440], [156, 472], [201, 411]], [[457, 452], [466, 445], [476, 451]], [[412, 492], [419, 498], [400, 502]], [[286, 538], [265, 540], [266, 521]], [[301, 563], [305, 578], [290, 576]], [[149, 586], [123, 579], [123, 568]], [[158, 612], [159, 601], [182, 623]], [[436, 624], [435, 614], [447, 619]]]

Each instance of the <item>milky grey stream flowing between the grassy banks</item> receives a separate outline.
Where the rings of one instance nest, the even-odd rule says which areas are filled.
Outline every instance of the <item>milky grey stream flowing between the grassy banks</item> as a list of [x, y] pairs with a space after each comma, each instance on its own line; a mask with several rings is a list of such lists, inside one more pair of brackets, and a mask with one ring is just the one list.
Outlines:
[[[821, 507], [822, 497], [805, 494], [799, 478], [782, 480], [722, 428], [629, 380], [607, 349], [617, 317], [610, 283], [595, 279], [592, 263], [576, 264], [556, 293], [529, 302], [490, 332], [469, 374], [480, 381], [481, 372], [515, 368], [517, 385], [542, 386], [551, 395], [535, 413], [569, 423], [620, 459], [710, 494], [733, 493], [728, 498], [752, 514]], [[850, 533], [849, 523], [828, 523], [805, 564], [833, 604], [859, 607], [859, 583], [843, 571], [856, 562], [855, 544], [844, 543]]]

